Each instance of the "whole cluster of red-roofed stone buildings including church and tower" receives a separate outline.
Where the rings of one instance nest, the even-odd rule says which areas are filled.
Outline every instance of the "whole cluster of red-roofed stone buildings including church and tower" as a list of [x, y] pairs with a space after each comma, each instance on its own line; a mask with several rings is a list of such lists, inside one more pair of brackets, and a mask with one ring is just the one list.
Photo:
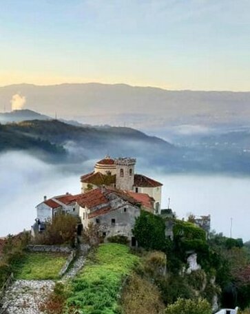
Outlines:
[[97, 224], [103, 238], [125, 235], [136, 244], [132, 229], [143, 209], [160, 214], [162, 183], [143, 174], [135, 174], [136, 159], [106, 156], [99, 160], [90, 174], [81, 176], [81, 193], [66, 193], [37, 205], [37, 219], [32, 233], [41, 232], [45, 222], [59, 213], [81, 219], [87, 229]]

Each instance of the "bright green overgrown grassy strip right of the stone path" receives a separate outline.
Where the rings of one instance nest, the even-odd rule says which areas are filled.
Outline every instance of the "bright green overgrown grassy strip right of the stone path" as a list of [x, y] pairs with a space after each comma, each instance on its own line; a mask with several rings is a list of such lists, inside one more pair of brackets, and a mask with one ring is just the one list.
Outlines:
[[77, 306], [83, 314], [114, 314], [118, 310], [118, 293], [123, 279], [138, 262], [122, 244], [101, 244], [94, 261], [87, 264], [72, 282], [69, 305]]

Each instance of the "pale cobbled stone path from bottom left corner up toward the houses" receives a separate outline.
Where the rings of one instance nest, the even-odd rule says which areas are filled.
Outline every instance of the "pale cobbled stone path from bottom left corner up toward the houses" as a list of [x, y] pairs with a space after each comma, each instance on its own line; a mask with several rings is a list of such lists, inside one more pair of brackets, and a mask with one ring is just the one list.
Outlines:
[[[66, 282], [83, 268], [85, 256], [80, 255], [71, 269], [63, 275], [61, 282]], [[39, 303], [45, 300], [54, 289], [53, 280], [17, 280], [6, 291], [3, 297], [3, 314], [41, 314]]]

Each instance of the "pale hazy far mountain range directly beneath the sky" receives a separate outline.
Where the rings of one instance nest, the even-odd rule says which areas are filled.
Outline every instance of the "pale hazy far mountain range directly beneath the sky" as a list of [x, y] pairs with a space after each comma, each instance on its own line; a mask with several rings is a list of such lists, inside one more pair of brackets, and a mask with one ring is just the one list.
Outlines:
[[182, 124], [244, 124], [250, 120], [250, 92], [170, 91], [124, 84], [29, 84], [0, 87], [0, 107], [10, 109], [17, 92], [34, 111], [89, 124], [149, 129]]

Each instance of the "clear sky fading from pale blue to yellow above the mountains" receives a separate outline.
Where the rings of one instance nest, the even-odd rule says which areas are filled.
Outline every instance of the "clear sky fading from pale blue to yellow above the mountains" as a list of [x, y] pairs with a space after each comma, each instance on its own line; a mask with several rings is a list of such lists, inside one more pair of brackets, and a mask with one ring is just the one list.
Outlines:
[[250, 90], [249, 0], [0, 0], [0, 85]]

